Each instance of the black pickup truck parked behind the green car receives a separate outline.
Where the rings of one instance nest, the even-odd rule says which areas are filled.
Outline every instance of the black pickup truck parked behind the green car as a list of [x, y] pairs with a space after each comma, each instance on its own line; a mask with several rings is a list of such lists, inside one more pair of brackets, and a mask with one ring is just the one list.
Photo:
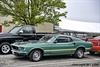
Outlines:
[[7, 33], [0, 33], [0, 52], [8, 54], [11, 52], [11, 43], [39, 40], [44, 35], [45, 33], [36, 33], [35, 27], [31, 25], [16, 26]]

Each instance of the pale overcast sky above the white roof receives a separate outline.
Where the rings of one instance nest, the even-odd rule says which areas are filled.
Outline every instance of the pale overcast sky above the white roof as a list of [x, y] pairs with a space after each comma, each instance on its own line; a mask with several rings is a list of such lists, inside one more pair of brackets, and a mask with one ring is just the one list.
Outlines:
[[100, 22], [100, 0], [66, 0], [67, 18], [86, 22]]

